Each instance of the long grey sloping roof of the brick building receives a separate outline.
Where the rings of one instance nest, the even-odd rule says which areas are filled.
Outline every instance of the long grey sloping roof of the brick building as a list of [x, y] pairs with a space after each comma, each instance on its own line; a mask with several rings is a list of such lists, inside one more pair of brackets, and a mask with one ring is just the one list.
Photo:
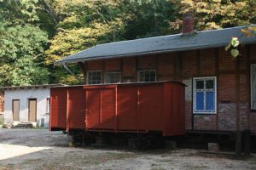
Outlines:
[[201, 48], [226, 46], [232, 37], [238, 37], [241, 43], [256, 42], [256, 36], [246, 37], [241, 29], [247, 26], [225, 28], [221, 30], [197, 31], [189, 36], [182, 34], [148, 37], [130, 41], [110, 42], [87, 48], [77, 54], [56, 61], [56, 64], [76, 63], [93, 59], [110, 59], [144, 54], [185, 51]]

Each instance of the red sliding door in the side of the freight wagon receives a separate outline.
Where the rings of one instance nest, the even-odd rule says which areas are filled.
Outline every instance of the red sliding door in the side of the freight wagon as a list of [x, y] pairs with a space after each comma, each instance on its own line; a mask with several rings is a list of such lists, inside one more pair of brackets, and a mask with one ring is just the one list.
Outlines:
[[115, 129], [116, 88], [86, 88], [85, 122], [88, 129]]

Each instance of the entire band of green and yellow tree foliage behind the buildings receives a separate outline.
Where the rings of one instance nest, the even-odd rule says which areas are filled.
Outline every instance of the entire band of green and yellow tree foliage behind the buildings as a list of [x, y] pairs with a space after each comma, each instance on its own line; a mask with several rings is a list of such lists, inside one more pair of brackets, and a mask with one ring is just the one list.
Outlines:
[[[0, 0], [0, 85], [79, 83], [55, 61], [100, 43], [177, 33], [187, 11], [201, 31], [252, 24], [255, 9], [255, 0]], [[230, 43], [233, 54], [237, 47]]]

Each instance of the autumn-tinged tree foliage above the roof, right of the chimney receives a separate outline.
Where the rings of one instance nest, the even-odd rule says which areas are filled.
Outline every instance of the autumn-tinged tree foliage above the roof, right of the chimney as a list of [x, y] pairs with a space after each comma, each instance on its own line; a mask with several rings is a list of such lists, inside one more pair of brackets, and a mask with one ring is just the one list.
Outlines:
[[[192, 11], [195, 14], [195, 28], [199, 31], [214, 30], [232, 26], [246, 26], [256, 21], [255, 0], [170, 0], [180, 14]], [[181, 28], [181, 20], [171, 26]]]

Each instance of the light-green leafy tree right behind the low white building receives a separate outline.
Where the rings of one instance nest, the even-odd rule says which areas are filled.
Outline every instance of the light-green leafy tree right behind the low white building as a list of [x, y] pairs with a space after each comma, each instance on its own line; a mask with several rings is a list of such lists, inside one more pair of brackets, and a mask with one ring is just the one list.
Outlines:
[[0, 85], [48, 83], [44, 68], [47, 34], [36, 26], [0, 26]]

